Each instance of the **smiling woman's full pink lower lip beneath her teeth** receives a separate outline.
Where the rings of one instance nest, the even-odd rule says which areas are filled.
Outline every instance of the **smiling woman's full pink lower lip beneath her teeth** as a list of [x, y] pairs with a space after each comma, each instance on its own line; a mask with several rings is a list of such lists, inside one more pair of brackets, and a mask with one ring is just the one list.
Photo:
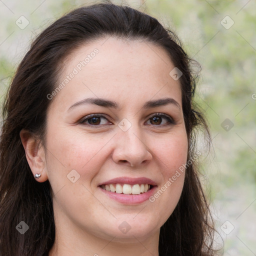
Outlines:
[[110, 198], [121, 202], [125, 204], [137, 204], [142, 203], [149, 199], [149, 197], [155, 192], [157, 186], [153, 186], [150, 190], [147, 192], [144, 192], [142, 194], [120, 194], [116, 192], [107, 191], [101, 187], [102, 192], [104, 192], [106, 195], [108, 195]]

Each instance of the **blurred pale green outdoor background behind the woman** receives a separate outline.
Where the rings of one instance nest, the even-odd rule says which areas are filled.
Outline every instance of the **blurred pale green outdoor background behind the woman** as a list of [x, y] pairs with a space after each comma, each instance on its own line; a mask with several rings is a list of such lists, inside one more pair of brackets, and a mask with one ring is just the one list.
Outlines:
[[[0, 1], [0, 101], [35, 35], [70, 9], [95, 2]], [[200, 63], [195, 101], [212, 140], [209, 152], [202, 142], [198, 147], [205, 149], [201, 179], [220, 234], [215, 245], [224, 241], [225, 256], [256, 255], [255, 1], [112, 2], [158, 18]]]

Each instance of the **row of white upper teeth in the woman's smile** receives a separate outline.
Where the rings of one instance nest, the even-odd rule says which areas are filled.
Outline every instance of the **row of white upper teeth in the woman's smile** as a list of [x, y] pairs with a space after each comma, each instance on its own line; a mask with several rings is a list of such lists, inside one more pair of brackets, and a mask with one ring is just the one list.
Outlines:
[[124, 194], [140, 194], [146, 192], [149, 188], [150, 185], [148, 184], [105, 184], [101, 185], [101, 188], [111, 191], [111, 192], [116, 192], [116, 193], [124, 193]]

